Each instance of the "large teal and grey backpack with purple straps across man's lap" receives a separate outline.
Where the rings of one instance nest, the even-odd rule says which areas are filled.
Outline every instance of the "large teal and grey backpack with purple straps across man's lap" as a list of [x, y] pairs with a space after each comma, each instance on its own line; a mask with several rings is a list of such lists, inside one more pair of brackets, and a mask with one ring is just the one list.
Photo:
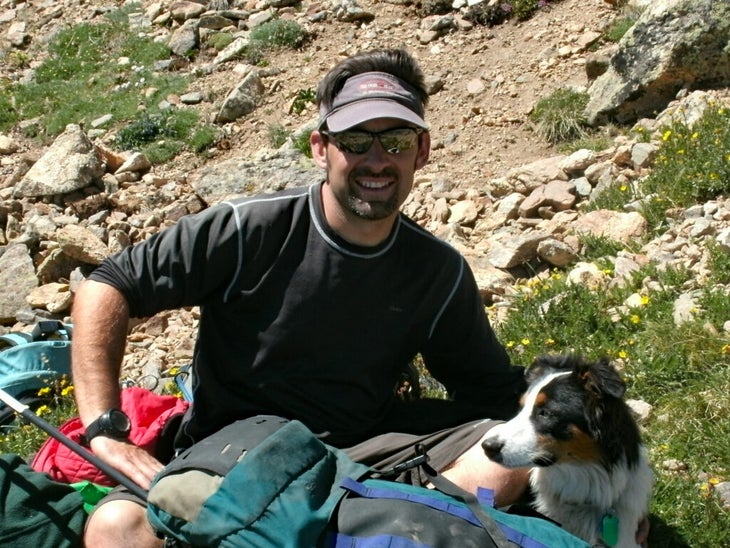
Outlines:
[[414, 459], [436, 489], [378, 478], [299, 421], [252, 417], [162, 470], [147, 517], [183, 546], [588, 547], [550, 521], [492, 508], [424, 461]]

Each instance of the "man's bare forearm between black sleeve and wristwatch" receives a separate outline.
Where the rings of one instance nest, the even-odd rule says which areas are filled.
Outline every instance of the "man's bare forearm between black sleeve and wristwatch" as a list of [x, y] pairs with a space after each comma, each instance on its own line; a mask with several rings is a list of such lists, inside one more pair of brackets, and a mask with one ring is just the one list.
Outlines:
[[119, 371], [126, 344], [129, 307], [114, 287], [85, 281], [73, 307], [72, 374], [85, 425], [119, 407]]

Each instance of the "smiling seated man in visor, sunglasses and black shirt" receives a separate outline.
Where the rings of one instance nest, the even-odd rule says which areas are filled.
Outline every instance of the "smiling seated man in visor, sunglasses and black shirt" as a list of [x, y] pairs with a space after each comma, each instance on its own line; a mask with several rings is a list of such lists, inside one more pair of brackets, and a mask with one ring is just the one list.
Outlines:
[[[429, 157], [423, 74], [402, 50], [365, 52], [326, 75], [317, 101], [310, 144], [323, 183], [186, 217], [79, 288], [73, 375], [90, 447], [149, 486], [162, 463], [99, 418], [119, 407], [129, 317], [199, 305], [185, 445], [237, 419], [280, 415], [379, 467], [423, 443], [456, 483], [513, 502], [526, 471], [490, 462], [479, 442], [496, 424], [486, 417], [516, 412], [521, 369], [497, 342], [464, 258], [399, 211]], [[448, 401], [394, 395], [419, 354]], [[100, 505], [88, 546], [161, 544], [132, 499]]]

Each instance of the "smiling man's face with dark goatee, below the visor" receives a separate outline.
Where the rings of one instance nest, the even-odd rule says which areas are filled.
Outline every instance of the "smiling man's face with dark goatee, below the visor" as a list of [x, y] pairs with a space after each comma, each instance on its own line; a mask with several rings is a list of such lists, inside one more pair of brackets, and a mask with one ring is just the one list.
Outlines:
[[[379, 133], [396, 128], [407, 128], [401, 120], [381, 118], [370, 120], [348, 131]], [[337, 134], [323, 135], [314, 132], [311, 138], [315, 162], [327, 170], [325, 192], [331, 192], [341, 213], [350, 221], [395, 219], [413, 186], [417, 169], [428, 161], [430, 138], [428, 133], [402, 132], [413, 138], [413, 146], [398, 153], [383, 148], [375, 138], [369, 149], [362, 153], [348, 152], [343, 137], [338, 143]], [[388, 144], [395, 134], [386, 134]], [[362, 136], [367, 141], [368, 136]], [[338, 146], [339, 144], [339, 146]], [[344, 147], [342, 145], [345, 145]]]

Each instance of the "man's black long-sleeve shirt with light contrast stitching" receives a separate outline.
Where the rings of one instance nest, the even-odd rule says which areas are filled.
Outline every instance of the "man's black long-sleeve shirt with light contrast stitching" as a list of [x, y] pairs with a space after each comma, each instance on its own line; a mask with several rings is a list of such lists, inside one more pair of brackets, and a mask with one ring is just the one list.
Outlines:
[[[299, 419], [349, 445], [507, 418], [523, 389], [464, 258], [404, 215], [359, 247], [327, 225], [320, 185], [238, 199], [181, 219], [91, 274], [132, 316], [199, 305], [193, 439], [254, 414]], [[418, 353], [451, 396], [403, 403]]]

